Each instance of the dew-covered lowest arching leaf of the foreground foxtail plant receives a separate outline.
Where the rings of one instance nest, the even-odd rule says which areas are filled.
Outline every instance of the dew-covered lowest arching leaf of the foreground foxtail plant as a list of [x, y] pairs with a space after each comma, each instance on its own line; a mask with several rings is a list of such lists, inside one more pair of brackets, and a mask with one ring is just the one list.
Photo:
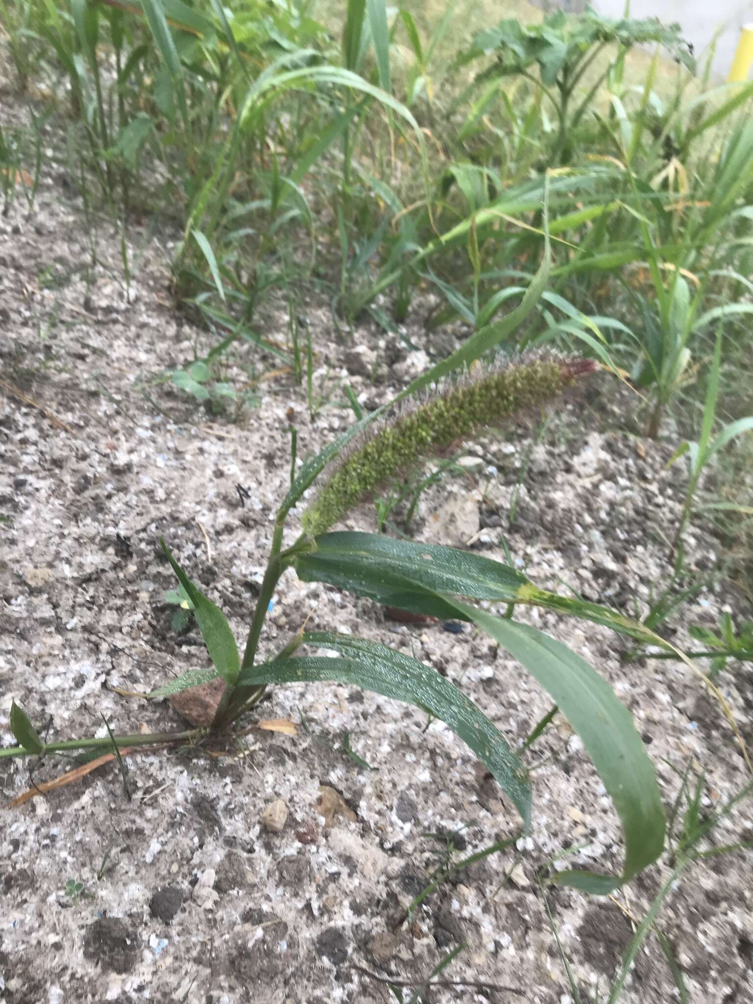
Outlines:
[[526, 770], [499, 729], [449, 680], [411, 656], [349, 635], [309, 633], [303, 635], [301, 644], [333, 649], [343, 658], [275, 660], [244, 672], [239, 684], [254, 687], [332, 681], [422, 708], [445, 722], [470, 746], [515, 804], [525, 824], [530, 823], [531, 794]]

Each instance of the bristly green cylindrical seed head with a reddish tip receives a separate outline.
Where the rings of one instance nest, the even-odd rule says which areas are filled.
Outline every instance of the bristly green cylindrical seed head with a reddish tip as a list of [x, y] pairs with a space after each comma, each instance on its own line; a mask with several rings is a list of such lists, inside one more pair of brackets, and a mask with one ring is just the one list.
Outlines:
[[303, 514], [303, 529], [312, 537], [326, 533], [354, 505], [423, 457], [517, 412], [550, 404], [596, 368], [591, 359], [526, 353], [443, 381], [372, 423], [325, 468], [324, 483]]

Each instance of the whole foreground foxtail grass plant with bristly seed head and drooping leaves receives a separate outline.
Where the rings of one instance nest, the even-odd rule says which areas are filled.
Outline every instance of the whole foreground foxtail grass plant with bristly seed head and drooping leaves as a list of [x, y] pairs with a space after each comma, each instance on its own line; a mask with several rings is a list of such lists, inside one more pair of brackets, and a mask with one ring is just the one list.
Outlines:
[[[211, 729], [47, 743], [14, 704], [10, 724], [17, 745], [0, 750], [0, 757], [199, 740], [231, 728], [270, 685], [336, 681], [417, 705], [444, 721], [491, 771], [527, 830], [532, 792], [525, 750], [513, 750], [483, 712], [434, 669], [375, 642], [303, 629], [277, 653], [259, 657], [270, 600], [280, 576], [292, 568], [305, 581], [329, 583], [409, 611], [468, 621], [488, 633], [548, 691], [582, 739], [611, 796], [625, 845], [622, 866], [616, 871], [570, 869], [558, 872], [554, 881], [606, 894], [654, 861], [664, 846], [662, 798], [654, 767], [628, 710], [603, 678], [571, 649], [530, 624], [484, 607], [496, 602], [508, 609], [519, 603], [534, 604], [607, 624], [644, 642], [667, 643], [606, 607], [549, 593], [509, 565], [477, 554], [379, 534], [332, 532], [334, 524], [355, 505], [427, 455], [521, 412], [548, 406], [595, 368], [591, 360], [531, 353], [506, 363], [477, 364], [460, 376], [453, 375], [467, 368], [474, 351], [478, 355], [493, 346], [532, 309], [546, 265], [517, 310], [491, 329], [477, 331], [461, 349], [415, 381], [391, 407], [364, 416], [302, 465], [277, 513], [242, 658], [221, 609], [200, 591], [162, 541], [193, 605], [212, 667], [190, 670], [144, 697], [159, 699], [220, 678], [225, 689]], [[303, 532], [285, 547], [287, 518], [317, 480], [319, 490], [302, 514]], [[469, 599], [484, 601], [483, 606]], [[301, 655], [304, 649], [325, 649], [329, 655]], [[331, 658], [332, 651], [338, 658]]]

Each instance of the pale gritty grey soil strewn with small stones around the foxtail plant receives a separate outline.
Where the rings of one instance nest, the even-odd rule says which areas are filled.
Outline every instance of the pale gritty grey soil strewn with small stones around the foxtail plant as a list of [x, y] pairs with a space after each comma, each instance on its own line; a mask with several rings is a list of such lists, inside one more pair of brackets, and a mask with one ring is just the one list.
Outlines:
[[[258, 404], [212, 415], [165, 379], [219, 337], [175, 308], [176, 236], [154, 221], [132, 222], [127, 284], [119, 234], [100, 218], [87, 232], [80, 200], [54, 170], [43, 175], [30, 213], [17, 201], [0, 218], [0, 513], [10, 517], [0, 525], [5, 746], [13, 743], [12, 699], [48, 741], [106, 735], [102, 718], [116, 734], [187, 728], [167, 701], [115, 690], [145, 693], [208, 664], [195, 625], [180, 635], [172, 626], [176, 607], [165, 592], [176, 583], [158, 538], [242, 639], [288, 484], [290, 423], [299, 456], [311, 453], [351, 421], [343, 382], [371, 408], [426, 368], [430, 354], [453, 347], [454, 335], [428, 337], [421, 317], [409, 331], [413, 348], [369, 326], [340, 340], [327, 310], [311, 303], [301, 309], [317, 352], [314, 394], [322, 401], [314, 417], [305, 384], [285, 371], [269, 375], [279, 360], [250, 344], [231, 348], [220, 378], [248, 386]], [[286, 313], [270, 310], [260, 333], [284, 346]], [[422, 496], [411, 533], [500, 560], [504, 534], [538, 584], [645, 612], [668, 579], [683, 484], [679, 467], [666, 470], [676, 444], [609, 431], [624, 427], [634, 402], [603, 374], [563, 406], [540, 442], [536, 422], [465, 444], [465, 473]], [[344, 525], [373, 529], [373, 507]], [[293, 513], [290, 539], [297, 527]], [[693, 533], [687, 544], [691, 572], [711, 578], [717, 545]], [[684, 606], [683, 622], [711, 626], [730, 601], [723, 586], [705, 588]], [[745, 783], [721, 710], [682, 664], [625, 662], [624, 641], [606, 630], [536, 610], [516, 615], [609, 680], [648, 744], [668, 807], [689, 762], [705, 774], [705, 812]], [[439, 622], [391, 620], [366, 600], [292, 572], [274, 597], [263, 652], [279, 649], [306, 618], [310, 630], [357, 633], [423, 660], [512, 743], [549, 709], [521, 668], [468, 625], [456, 634]], [[688, 645], [681, 623], [671, 620], [670, 630]], [[720, 687], [753, 742], [750, 676], [732, 663], [729, 671]], [[261, 720], [295, 729], [260, 729]], [[360, 759], [348, 755], [348, 743]], [[620, 832], [561, 717], [527, 762], [537, 767], [531, 836], [517, 851], [456, 871], [408, 920], [438, 867], [514, 835], [519, 821], [442, 723], [349, 687], [272, 690], [230, 745], [135, 752], [123, 758], [124, 780], [109, 762], [7, 808], [0, 1001], [370, 1004], [394, 999], [389, 981], [420, 983], [465, 945], [438, 978], [446, 985], [425, 1000], [566, 1004], [552, 925], [583, 1000], [596, 988], [605, 998], [631, 918], [645, 915], [671, 862], [666, 856], [614, 900], [550, 890], [547, 920], [537, 869], [575, 847], [561, 866], [618, 870]], [[0, 765], [7, 802], [75, 763]], [[713, 839], [751, 837], [747, 802]], [[753, 885], [744, 856], [696, 865], [671, 893], [660, 927], [692, 999], [753, 999]], [[652, 937], [622, 1000], [675, 999]]]

